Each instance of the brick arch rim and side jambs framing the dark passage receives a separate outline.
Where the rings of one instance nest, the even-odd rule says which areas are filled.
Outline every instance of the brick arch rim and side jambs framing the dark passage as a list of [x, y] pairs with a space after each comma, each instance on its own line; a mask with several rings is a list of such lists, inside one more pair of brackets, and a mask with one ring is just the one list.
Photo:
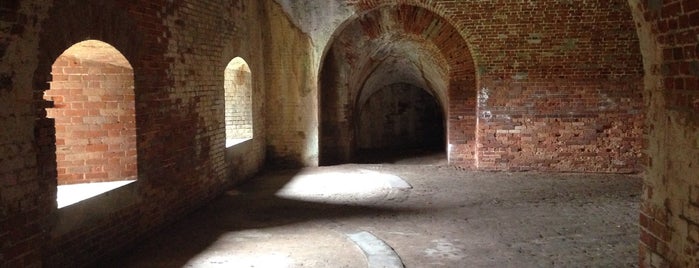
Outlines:
[[[370, 55], [344, 53], [338, 57], [338, 53], [343, 54], [338, 52], [340, 46], [353, 45], [347, 44], [354, 42], [347, 36], [356, 34], [352, 31], [360, 27], [362, 36], [368, 40], [388, 39], [388, 42], [392, 42], [396, 40], [391, 38], [397, 38], [397, 41], [414, 39], [417, 40], [415, 42], [422, 43], [419, 46], [426, 51], [430, 51], [430, 47], [434, 48], [433, 52], [424, 53], [434, 53], [434, 58], [441, 61], [433, 67], [439, 69], [440, 66], [446, 66], [447, 69], [444, 79], [446, 93], [443, 95], [446, 95], [445, 106], [448, 111], [446, 117], [450, 163], [474, 167], [477, 78], [469, 45], [461, 33], [442, 16], [421, 6], [377, 4], [358, 7], [360, 12], [335, 31], [321, 61], [321, 164], [351, 159], [354, 141], [351, 129], [356, 116], [353, 110], [358, 106], [358, 92], [361, 92], [365, 79], [375, 71], [375, 57], [381, 57], [380, 54], [384, 52], [383, 48], [378, 47], [368, 50]], [[345, 71], [354, 72], [349, 77], [339, 74]], [[333, 86], [339, 80], [343, 80], [348, 88]]]

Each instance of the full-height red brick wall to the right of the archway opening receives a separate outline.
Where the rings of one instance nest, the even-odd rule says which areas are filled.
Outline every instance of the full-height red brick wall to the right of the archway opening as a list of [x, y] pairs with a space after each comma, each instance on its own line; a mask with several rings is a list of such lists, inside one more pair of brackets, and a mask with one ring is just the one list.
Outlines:
[[[363, 12], [395, 1], [348, 2]], [[450, 163], [486, 170], [641, 170], [643, 70], [626, 1], [398, 2], [434, 11], [455, 26], [468, 46], [448, 40], [440, 47], [459, 49], [443, 51], [446, 57], [470, 52], [474, 58], [475, 70], [450, 75]], [[413, 18], [414, 27], [430, 22]], [[475, 88], [454, 80], [460, 71], [477, 72]]]

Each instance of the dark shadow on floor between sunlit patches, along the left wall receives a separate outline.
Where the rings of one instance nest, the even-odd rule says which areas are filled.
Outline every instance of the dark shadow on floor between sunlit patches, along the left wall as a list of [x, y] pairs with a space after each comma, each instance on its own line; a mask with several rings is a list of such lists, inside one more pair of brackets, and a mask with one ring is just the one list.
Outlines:
[[[366, 215], [415, 213], [407, 209], [328, 204], [276, 196], [275, 193], [298, 172], [275, 171], [264, 174], [262, 177], [266, 178], [265, 181], [253, 179], [166, 227], [137, 247], [93, 267], [183, 267], [226, 233], [315, 220], [333, 221]], [[162, 250], [164, 248], [167, 250]], [[151, 258], [155, 257], [152, 254], [158, 254], [157, 258]], [[143, 260], [149, 260], [150, 263], [144, 263]]]

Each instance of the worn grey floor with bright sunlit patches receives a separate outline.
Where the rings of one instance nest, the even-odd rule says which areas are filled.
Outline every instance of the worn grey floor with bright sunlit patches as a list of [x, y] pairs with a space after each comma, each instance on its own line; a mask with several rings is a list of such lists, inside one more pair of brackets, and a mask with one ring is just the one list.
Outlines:
[[266, 172], [98, 266], [367, 267], [363, 231], [405, 267], [636, 266], [638, 176], [392, 161]]

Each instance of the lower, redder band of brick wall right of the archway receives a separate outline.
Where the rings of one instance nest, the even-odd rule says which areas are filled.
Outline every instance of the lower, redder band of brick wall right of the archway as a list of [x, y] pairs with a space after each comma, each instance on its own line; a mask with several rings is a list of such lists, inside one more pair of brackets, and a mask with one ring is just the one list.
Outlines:
[[481, 81], [480, 168], [640, 171], [640, 81]]

